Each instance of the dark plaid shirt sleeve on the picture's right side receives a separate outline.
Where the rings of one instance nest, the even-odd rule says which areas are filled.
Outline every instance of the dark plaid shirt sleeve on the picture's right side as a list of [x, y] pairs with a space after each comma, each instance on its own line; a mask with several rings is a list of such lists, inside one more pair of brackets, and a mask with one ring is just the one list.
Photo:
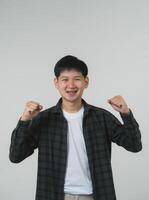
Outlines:
[[107, 112], [106, 115], [110, 140], [128, 151], [141, 151], [141, 132], [131, 109], [129, 114], [120, 113], [123, 124], [112, 113]]

